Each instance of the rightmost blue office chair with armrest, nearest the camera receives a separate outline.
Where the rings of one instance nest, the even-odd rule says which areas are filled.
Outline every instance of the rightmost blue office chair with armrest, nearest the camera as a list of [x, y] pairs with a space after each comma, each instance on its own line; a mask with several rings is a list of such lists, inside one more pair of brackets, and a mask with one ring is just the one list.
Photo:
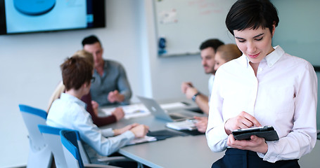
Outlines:
[[79, 152], [79, 146], [77, 143], [77, 133], [72, 130], [61, 130], [60, 131], [60, 139], [63, 144], [63, 153], [65, 157], [65, 161], [68, 167], [109, 167], [115, 168], [111, 165], [97, 165], [97, 164], [84, 164], [82, 162], [82, 157]]

